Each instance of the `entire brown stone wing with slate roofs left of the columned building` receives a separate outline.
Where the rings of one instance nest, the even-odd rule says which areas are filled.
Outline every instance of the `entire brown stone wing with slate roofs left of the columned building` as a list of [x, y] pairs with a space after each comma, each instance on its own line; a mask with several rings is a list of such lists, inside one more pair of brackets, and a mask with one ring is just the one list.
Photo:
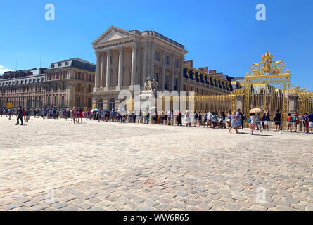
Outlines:
[[80, 58], [49, 68], [5, 72], [0, 79], [0, 108], [92, 108], [96, 65]]

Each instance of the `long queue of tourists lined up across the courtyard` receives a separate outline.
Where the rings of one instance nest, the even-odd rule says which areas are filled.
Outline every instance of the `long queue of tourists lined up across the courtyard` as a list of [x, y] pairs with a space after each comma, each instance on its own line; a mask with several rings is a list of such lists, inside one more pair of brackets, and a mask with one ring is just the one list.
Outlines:
[[[228, 113], [224, 112], [194, 112], [191, 114], [190, 111], [186, 111], [184, 115], [180, 111], [169, 110], [166, 112], [158, 112], [156, 109], [143, 111], [139, 110], [139, 113], [134, 111], [127, 110], [98, 110], [98, 109], [57, 109], [57, 108], [46, 108], [40, 112], [37, 110], [30, 110], [29, 108], [18, 108], [15, 109], [0, 109], [1, 117], [5, 116], [11, 120], [12, 115], [17, 116], [17, 123], [23, 125], [23, 118], [25, 122], [30, 120], [30, 115], [33, 115], [35, 118], [42, 117], [43, 119], [65, 119], [72, 122], [83, 122], [85, 120], [97, 120], [98, 122], [128, 122], [128, 123], [142, 123], [142, 124], [163, 124], [163, 125], [174, 125], [182, 126], [183, 122], [186, 127], [191, 127], [191, 123], [194, 127], [207, 127], [212, 129], [229, 129], [229, 133], [234, 129], [236, 134], [238, 134], [238, 129], [243, 129], [244, 121], [246, 115], [241, 112], [240, 109]], [[255, 129], [257, 130], [267, 130], [270, 129], [271, 124], [271, 115], [269, 110], [264, 110], [264, 112], [259, 113], [250, 113], [248, 117], [248, 124], [250, 124], [250, 134], [253, 135]], [[282, 114], [279, 113], [279, 110], [276, 111], [274, 115], [274, 131], [280, 131], [283, 125]], [[297, 114], [292, 116], [291, 113], [288, 114], [286, 118], [287, 131], [298, 131], [298, 126], [300, 122], [303, 123], [304, 132], [306, 134], [311, 131], [313, 133], [313, 113], [305, 113], [302, 117], [299, 117]]]

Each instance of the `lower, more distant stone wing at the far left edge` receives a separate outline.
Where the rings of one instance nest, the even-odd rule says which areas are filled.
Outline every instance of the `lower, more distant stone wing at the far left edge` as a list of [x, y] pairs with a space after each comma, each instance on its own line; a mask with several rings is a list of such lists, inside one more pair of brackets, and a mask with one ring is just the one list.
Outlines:
[[0, 108], [6, 108], [7, 103], [13, 108], [39, 107], [44, 94], [44, 70], [46, 68], [4, 72], [0, 79]]

